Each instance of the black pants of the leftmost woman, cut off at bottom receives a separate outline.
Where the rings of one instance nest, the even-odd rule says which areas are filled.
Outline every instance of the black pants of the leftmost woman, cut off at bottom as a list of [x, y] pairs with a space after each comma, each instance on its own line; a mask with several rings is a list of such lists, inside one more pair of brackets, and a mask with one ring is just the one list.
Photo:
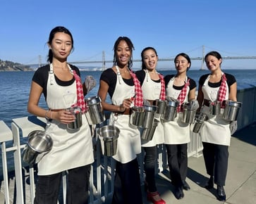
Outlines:
[[[85, 204], [88, 200], [91, 165], [68, 170], [67, 203]], [[59, 197], [62, 172], [38, 176], [35, 204], [56, 204]]]

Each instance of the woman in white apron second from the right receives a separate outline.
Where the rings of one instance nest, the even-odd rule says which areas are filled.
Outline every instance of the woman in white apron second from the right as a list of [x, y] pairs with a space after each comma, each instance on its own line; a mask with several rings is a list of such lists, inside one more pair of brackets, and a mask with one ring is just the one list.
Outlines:
[[188, 143], [190, 142], [190, 124], [182, 121], [182, 104], [195, 101], [196, 84], [187, 76], [191, 61], [187, 54], [179, 53], [174, 59], [176, 75], [166, 75], [166, 97], [180, 101], [177, 117], [173, 121], [164, 122], [164, 143], [166, 144], [171, 183], [175, 186], [177, 199], [184, 197], [183, 189], [190, 186], [185, 181], [188, 172]]

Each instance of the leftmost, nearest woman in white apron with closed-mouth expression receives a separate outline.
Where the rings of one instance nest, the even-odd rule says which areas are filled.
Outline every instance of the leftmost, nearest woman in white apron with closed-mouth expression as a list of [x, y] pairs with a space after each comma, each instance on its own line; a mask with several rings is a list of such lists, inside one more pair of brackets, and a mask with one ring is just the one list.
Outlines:
[[[55, 27], [49, 34], [49, 65], [38, 68], [32, 78], [28, 112], [47, 118], [46, 134], [53, 147], [49, 153], [37, 157], [38, 180], [34, 203], [56, 204], [62, 172], [68, 172], [67, 203], [87, 203], [90, 165], [94, 162], [92, 136], [85, 117], [83, 85], [80, 72], [68, 65], [73, 49], [73, 37], [65, 27]], [[48, 110], [38, 106], [41, 94]], [[79, 97], [80, 96], [80, 97]], [[82, 126], [68, 129], [75, 117], [67, 110], [81, 108]]]

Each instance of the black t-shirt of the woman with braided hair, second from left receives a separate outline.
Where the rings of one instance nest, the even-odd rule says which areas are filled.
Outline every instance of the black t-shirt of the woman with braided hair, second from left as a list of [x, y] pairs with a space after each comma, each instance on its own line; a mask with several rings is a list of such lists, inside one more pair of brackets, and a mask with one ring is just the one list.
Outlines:
[[[114, 70], [112, 70], [112, 68], [104, 70], [104, 72], [102, 72], [102, 75], [100, 76], [99, 80], [102, 80], [102, 81], [106, 82], [106, 84], [109, 85], [108, 93], [109, 93], [110, 98], [112, 98], [115, 88], [116, 88], [116, 82], [117, 82], [117, 75], [114, 72]], [[129, 86], [134, 85], [132, 77], [130, 79], [123, 79], [123, 82], [125, 82]]]

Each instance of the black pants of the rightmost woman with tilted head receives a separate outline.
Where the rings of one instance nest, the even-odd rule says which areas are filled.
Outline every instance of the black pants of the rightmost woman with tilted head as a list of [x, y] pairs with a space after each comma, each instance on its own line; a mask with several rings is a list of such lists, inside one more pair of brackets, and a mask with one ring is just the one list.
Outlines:
[[207, 174], [214, 177], [214, 183], [225, 186], [228, 171], [228, 146], [202, 142], [202, 154]]

